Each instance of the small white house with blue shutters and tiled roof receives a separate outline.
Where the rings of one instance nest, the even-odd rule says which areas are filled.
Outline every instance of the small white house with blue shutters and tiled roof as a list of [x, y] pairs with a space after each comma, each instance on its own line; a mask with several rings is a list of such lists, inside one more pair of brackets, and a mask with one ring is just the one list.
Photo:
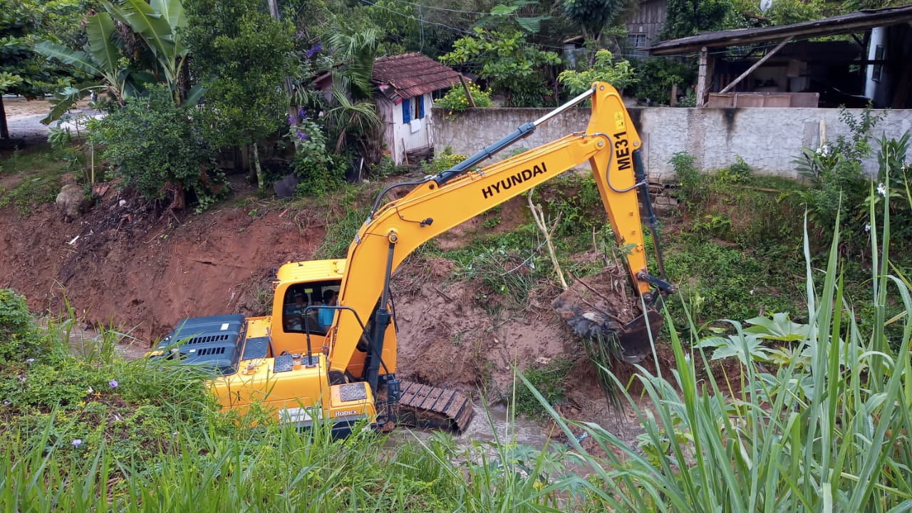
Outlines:
[[459, 73], [420, 53], [378, 58], [373, 82], [383, 140], [397, 165], [433, 149], [431, 106], [435, 93], [460, 82]]

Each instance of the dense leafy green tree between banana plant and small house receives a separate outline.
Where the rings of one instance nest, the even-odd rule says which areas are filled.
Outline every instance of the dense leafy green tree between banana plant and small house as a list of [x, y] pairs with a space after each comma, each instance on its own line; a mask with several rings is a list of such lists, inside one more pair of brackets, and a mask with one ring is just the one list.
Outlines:
[[184, 0], [194, 75], [206, 88], [202, 115], [214, 147], [277, 138], [288, 99], [293, 28], [259, 0]]

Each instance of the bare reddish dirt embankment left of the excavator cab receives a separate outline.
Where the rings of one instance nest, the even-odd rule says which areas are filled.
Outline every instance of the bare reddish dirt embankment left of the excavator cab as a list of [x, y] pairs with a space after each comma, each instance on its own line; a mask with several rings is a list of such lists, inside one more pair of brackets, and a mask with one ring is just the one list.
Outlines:
[[183, 317], [249, 313], [275, 267], [313, 256], [323, 229], [282, 211], [228, 207], [178, 219], [130, 211], [116, 194], [72, 223], [52, 205], [0, 210], [0, 287], [35, 311], [65, 309], [146, 341]]

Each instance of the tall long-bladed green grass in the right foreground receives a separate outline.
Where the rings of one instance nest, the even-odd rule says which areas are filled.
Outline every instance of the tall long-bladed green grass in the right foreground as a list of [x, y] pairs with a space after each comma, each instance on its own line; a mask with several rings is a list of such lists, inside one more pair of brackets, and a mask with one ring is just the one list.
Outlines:
[[[876, 234], [873, 206], [869, 215]], [[870, 332], [859, 330], [843, 295], [837, 226], [823, 272], [804, 245], [806, 325], [729, 321], [728, 340], [744, 362], [733, 393], [713, 377], [710, 358], [688, 354], [670, 330], [677, 369], [671, 376], [639, 369], [647, 406], [626, 394], [645, 430], [639, 446], [583, 423], [607, 457], [591, 455], [552, 410], [595, 476], [574, 478], [586, 490], [582, 500], [619, 511], [912, 510], [912, 299], [907, 282], [887, 274], [888, 215], [885, 204], [881, 236], [871, 239]], [[886, 319], [887, 301], [905, 313]], [[887, 340], [888, 322], [905, 323], [898, 340]], [[771, 365], [758, 338], [793, 341], [769, 348], [779, 356]]]

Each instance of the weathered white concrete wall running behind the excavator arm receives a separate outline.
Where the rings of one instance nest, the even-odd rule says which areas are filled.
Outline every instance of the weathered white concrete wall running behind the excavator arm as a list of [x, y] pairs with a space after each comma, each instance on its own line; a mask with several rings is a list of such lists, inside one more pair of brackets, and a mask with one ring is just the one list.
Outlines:
[[[434, 148], [447, 146], [453, 152], [472, 154], [502, 138], [527, 121], [536, 120], [546, 109], [473, 109], [456, 115], [455, 120], [437, 116]], [[643, 162], [651, 180], [669, 180], [674, 171], [668, 162], [676, 152], [689, 152], [700, 169], [726, 168], [740, 156], [755, 173], [797, 177], [792, 162], [802, 147], [817, 148], [820, 124], [825, 121], [826, 138], [834, 141], [850, 131], [837, 109], [673, 109], [631, 108], [630, 117], [643, 139]], [[861, 110], [850, 110], [855, 117]], [[877, 110], [876, 112], [882, 112]], [[514, 147], [535, 146], [553, 141], [572, 131], [583, 131], [590, 110], [574, 109], [540, 126]], [[877, 123], [874, 134], [900, 137], [912, 130], [912, 110], [888, 110]], [[507, 156], [509, 150], [502, 152]], [[876, 171], [876, 162], [865, 162], [865, 169]]]

